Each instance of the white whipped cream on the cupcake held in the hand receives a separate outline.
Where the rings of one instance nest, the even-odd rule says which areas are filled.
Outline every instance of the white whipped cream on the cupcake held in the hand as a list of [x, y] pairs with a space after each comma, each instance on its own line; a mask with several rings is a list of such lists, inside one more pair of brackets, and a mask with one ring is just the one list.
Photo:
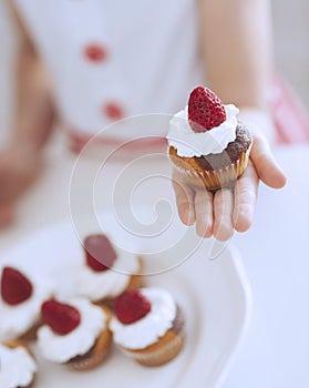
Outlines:
[[222, 153], [236, 139], [239, 110], [234, 104], [224, 105], [226, 121], [210, 131], [196, 133], [188, 122], [188, 109], [176, 113], [169, 121], [168, 144], [177, 150], [179, 156], [193, 157]]

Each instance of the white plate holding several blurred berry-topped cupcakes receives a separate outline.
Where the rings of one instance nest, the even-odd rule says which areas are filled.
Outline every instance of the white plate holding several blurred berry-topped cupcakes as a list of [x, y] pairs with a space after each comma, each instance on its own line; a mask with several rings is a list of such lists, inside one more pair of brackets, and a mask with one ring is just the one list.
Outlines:
[[66, 219], [2, 254], [1, 387], [222, 384], [250, 317], [241, 259], [162, 213]]

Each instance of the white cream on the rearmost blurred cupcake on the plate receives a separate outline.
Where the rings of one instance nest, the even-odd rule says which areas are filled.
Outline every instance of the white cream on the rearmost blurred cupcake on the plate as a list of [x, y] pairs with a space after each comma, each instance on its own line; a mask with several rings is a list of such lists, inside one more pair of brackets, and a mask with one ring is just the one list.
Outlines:
[[126, 289], [131, 276], [138, 270], [138, 257], [128, 252], [117, 252], [113, 268], [103, 272], [95, 272], [83, 264], [76, 278], [76, 293], [94, 302], [115, 297]]

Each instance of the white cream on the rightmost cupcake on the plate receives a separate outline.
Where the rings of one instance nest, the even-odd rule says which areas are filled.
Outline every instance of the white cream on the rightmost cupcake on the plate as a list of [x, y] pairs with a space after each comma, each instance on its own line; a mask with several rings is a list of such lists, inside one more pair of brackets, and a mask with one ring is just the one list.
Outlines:
[[115, 317], [110, 325], [115, 343], [128, 349], [143, 349], [156, 343], [173, 327], [177, 314], [177, 305], [167, 290], [153, 287], [142, 288], [141, 293], [150, 300], [151, 312], [130, 325]]

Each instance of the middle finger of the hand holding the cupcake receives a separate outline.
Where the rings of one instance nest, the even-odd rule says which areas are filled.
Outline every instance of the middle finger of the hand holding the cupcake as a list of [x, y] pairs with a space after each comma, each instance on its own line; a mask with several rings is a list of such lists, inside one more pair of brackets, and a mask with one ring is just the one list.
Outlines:
[[231, 190], [223, 188], [214, 196], [214, 236], [218, 241], [227, 241], [233, 236], [231, 214], [234, 194]]

